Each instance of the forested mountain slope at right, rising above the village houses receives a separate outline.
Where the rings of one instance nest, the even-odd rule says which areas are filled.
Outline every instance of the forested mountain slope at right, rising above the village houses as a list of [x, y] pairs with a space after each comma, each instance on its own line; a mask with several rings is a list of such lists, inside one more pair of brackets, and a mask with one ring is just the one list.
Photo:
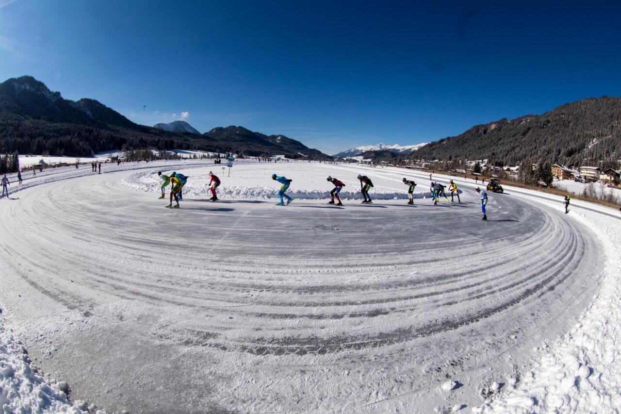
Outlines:
[[492, 165], [523, 160], [619, 168], [621, 98], [586, 98], [541, 115], [499, 119], [421, 147], [417, 159], [488, 159]]

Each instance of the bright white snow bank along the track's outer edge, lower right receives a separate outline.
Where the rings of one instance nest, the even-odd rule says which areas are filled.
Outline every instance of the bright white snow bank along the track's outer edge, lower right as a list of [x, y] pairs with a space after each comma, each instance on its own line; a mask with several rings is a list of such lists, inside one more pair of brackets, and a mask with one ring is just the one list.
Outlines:
[[[604, 211], [604, 208], [598, 208]], [[610, 211], [610, 210], [607, 210]], [[571, 213], [571, 212], [570, 212]], [[576, 213], [574, 219], [599, 229], [605, 252], [618, 252], [619, 219]], [[474, 413], [602, 412], [619, 410], [621, 398], [621, 257], [607, 254], [599, 293], [571, 331], [539, 352], [536, 369]], [[535, 408], [536, 407], [536, 408]]]

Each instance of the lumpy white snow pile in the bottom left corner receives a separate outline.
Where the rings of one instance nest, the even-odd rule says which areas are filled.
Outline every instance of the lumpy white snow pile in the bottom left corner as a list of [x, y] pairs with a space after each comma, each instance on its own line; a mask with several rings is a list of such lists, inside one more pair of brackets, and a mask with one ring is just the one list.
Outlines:
[[0, 326], [0, 413], [83, 413], [35, 374], [29, 361], [25, 347]]

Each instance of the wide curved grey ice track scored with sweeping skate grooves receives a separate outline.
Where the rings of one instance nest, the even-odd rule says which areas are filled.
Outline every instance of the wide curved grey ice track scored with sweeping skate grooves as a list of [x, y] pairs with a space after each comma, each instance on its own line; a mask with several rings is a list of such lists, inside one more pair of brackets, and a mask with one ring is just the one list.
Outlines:
[[[490, 226], [478, 205], [420, 204], [410, 216], [389, 201], [297, 200], [206, 213], [184, 200], [164, 214], [166, 200], [148, 197], [94, 177], [30, 188], [0, 214], [0, 270], [24, 293], [2, 300], [75, 344], [45, 356], [27, 338], [31, 352], [111, 409], [432, 409], [446, 403], [434, 384], [447, 375], [473, 398], [571, 324], [601, 267], [591, 232], [515, 198], [494, 198]], [[85, 327], [58, 331], [66, 318]], [[99, 369], [78, 368], [89, 364]], [[175, 398], [156, 392], [166, 378], [186, 385]]]

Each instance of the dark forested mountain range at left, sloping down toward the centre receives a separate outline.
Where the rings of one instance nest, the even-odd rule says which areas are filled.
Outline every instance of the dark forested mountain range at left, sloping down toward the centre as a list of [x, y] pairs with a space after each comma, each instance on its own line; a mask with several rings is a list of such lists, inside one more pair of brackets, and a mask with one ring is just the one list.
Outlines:
[[112, 149], [155, 148], [330, 159], [282, 135], [266, 136], [240, 126], [198, 134], [183, 124], [183, 131], [179, 131], [179, 125], [173, 122], [173, 131], [166, 131], [135, 124], [94, 99], [64, 99], [60, 92], [50, 91], [32, 76], [0, 83], [0, 153], [77, 157]]

